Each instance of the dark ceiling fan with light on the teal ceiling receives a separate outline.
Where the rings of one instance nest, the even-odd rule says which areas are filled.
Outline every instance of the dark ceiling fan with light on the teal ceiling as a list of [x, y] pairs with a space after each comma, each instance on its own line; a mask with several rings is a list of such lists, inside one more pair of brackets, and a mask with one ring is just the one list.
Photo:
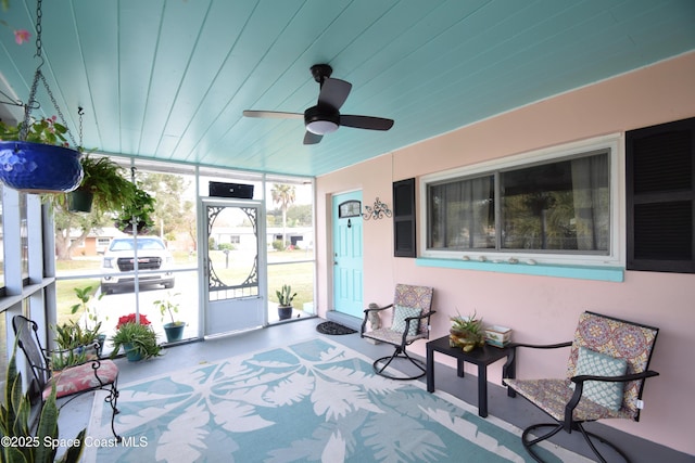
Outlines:
[[355, 116], [340, 114], [352, 83], [340, 79], [331, 79], [333, 69], [328, 64], [315, 64], [312, 66], [312, 75], [320, 86], [316, 106], [307, 108], [304, 114], [282, 113], [277, 111], [244, 111], [245, 117], [265, 117], [281, 119], [299, 119], [304, 117], [306, 133], [304, 144], [316, 144], [326, 133], [334, 132], [340, 126], [368, 130], [389, 130], [393, 127], [393, 119], [372, 116]]

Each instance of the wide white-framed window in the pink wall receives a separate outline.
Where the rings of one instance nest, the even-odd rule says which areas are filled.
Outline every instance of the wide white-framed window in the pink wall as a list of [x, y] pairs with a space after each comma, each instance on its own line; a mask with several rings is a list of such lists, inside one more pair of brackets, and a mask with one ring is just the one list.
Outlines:
[[424, 176], [421, 257], [624, 265], [619, 136]]

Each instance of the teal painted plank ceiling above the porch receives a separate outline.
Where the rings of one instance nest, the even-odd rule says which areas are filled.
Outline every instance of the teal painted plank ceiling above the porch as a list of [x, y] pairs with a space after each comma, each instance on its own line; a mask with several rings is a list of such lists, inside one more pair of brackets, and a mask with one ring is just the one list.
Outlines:
[[[0, 90], [22, 101], [35, 10], [0, 13]], [[695, 50], [694, 0], [43, 0], [41, 24], [42, 72], [74, 132], [85, 108], [85, 146], [300, 176]], [[353, 85], [343, 114], [394, 127], [305, 146], [301, 119], [242, 117], [315, 105], [317, 63]], [[55, 114], [39, 102], [35, 116]]]

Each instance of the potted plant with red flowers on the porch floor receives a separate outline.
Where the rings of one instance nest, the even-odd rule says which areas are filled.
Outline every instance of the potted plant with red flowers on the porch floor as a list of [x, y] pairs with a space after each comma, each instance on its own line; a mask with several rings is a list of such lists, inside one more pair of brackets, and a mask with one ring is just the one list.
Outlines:
[[138, 322], [135, 313], [118, 319], [116, 334], [111, 338], [113, 351], [111, 358], [115, 358], [123, 346], [129, 361], [138, 361], [157, 357], [161, 347], [156, 343], [156, 333], [152, 330], [150, 321], [140, 314]]

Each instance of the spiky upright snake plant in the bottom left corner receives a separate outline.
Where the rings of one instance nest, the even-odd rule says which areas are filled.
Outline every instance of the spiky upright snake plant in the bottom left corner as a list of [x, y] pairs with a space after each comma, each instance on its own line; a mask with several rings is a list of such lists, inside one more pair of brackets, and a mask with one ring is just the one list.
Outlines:
[[[59, 449], [56, 442], [59, 442], [60, 413], [55, 404], [55, 388], [41, 408], [36, 434], [31, 433], [31, 400], [22, 389], [22, 373], [16, 369], [16, 347], [15, 343], [7, 370], [4, 403], [0, 404], [0, 439], [3, 442], [0, 447], [0, 461], [3, 463], [53, 462]], [[74, 445], [66, 449], [61, 462], [79, 461], [85, 448], [86, 432], [87, 429], [80, 430], [73, 439]], [[16, 445], [13, 445], [15, 442]]]

